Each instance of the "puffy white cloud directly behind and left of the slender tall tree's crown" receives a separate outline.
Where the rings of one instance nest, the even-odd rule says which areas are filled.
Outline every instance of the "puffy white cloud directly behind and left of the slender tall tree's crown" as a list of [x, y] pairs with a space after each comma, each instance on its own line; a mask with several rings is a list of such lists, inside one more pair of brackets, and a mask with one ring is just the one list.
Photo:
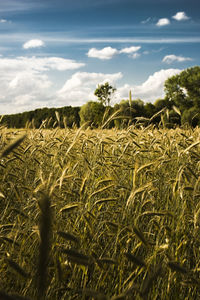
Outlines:
[[122, 73], [104, 74], [77, 72], [68, 79], [57, 92], [59, 101], [69, 101], [73, 105], [82, 105], [88, 100], [96, 100], [94, 90], [98, 84], [109, 82], [115, 86], [116, 81], [122, 78]]

